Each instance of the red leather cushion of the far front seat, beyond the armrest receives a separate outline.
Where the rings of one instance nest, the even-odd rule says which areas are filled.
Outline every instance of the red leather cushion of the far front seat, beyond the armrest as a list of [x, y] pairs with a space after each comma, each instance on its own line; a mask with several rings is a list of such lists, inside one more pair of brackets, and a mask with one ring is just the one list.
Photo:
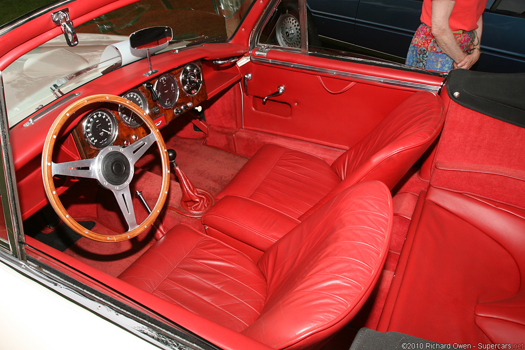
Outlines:
[[339, 182], [339, 176], [321, 158], [266, 144], [217, 197], [244, 196], [297, 219]]

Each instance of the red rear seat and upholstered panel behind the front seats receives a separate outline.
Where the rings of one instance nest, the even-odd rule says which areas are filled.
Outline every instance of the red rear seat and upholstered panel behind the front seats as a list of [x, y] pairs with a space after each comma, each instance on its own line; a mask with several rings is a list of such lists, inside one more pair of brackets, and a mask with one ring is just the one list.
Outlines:
[[523, 342], [524, 140], [525, 129], [449, 102], [378, 331], [445, 344]]

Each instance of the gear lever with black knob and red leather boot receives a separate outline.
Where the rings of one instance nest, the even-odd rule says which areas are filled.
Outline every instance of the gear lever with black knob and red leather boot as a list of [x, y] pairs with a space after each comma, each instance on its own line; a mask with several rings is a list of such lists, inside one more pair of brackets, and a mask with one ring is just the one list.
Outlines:
[[196, 188], [181, 168], [175, 163], [177, 153], [170, 149], [167, 150], [167, 156], [170, 163], [173, 165], [173, 171], [178, 178], [178, 183], [181, 185], [182, 199], [181, 206], [188, 213], [190, 217], [201, 217], [214, 204], [214, 199], [211, 194], [202, 188]]

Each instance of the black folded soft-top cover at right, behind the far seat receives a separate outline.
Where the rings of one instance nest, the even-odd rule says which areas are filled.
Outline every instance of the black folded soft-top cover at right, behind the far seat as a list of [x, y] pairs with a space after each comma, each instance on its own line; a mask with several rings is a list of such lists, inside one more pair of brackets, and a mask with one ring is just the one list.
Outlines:
[[453, 69], [450, 99], [471, 110], [525, 128], [525, 73], [485, 73]]

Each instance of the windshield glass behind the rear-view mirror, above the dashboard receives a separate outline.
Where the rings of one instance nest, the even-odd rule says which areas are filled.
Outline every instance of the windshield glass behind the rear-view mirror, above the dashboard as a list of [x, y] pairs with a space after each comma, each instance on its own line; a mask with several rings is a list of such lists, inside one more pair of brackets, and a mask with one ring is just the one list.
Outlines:
[[9, 125], [99, 77], [104, 70], [132, 62], [123, 50], [129, 46], [125, 41], [131, 33], [153, 26], [171, 27], [173, 39], [164, 50], [227, 41], [253, 1], [140, 0], [76, 25], [77, 46], [69, 47], [60, 35], [3, 71]]

